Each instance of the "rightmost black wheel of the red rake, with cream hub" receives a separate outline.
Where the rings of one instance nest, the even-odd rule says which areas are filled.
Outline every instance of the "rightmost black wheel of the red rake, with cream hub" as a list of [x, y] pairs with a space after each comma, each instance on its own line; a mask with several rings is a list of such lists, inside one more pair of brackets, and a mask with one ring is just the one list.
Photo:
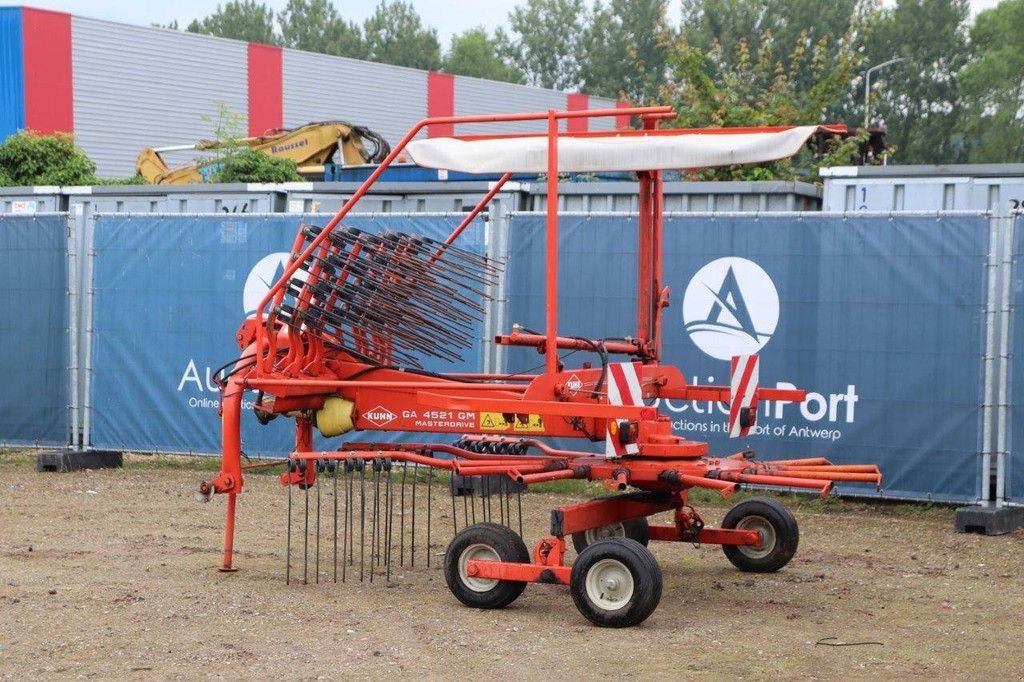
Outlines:
[[775, 572], [790, 563], [800, 544], [797, 519], [788, 509], [768, 498], [740, 502], [726, 513], [722, 527], [761, 531], [760, 545], [722, 546], [732, 565], [746, 572]]

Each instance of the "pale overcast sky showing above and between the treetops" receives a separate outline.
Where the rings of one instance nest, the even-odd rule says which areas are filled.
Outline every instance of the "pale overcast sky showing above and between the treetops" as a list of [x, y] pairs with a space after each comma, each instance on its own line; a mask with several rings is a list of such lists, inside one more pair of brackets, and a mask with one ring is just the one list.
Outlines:
[[[223, 0], [221, 0], [223, 1]], [[282, 9], [287, 0], [263, 0], [274, 9]], [[827, 1], [827, 0], [826, 0]], [[445, 48], [454, 34], [462, 33], [474, 26], [484, 26], [495, 29], [499, 26], [508, 28], [509, 11], [525, 0], [412, 0], [416, 11], [427, 26], [437, 29], [441, 45]], [[971, 0], [971, 10], [975, 13], [994, 7], [998, 0]], [[217, 0], [26, 0], [11, 2], [0, 0], [3, 5], [28, 5], [46, 9], [57, 9], [72, 14], [90, 16], [93, 18], [124, 22], [148, 26], [169, 24], [177, 19], [178, 24], [186, 25], [194, 18], [206, 16], [217, 8]], [[350, 20], [362, 23], [373, 13], [376, 1], [361, 0], [346, 2], [336, 0], [335, 5], [342, 15]], [[672, 0], [672, 14], [678, 20], [679, 0]]]

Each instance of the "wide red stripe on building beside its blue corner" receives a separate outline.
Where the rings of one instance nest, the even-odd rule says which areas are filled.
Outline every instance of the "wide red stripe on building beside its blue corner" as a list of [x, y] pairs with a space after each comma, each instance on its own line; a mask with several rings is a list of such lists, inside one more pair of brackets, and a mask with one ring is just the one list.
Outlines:
[[25, 127], [74, 132], [71, 14], [22, 8], [25, 50]]

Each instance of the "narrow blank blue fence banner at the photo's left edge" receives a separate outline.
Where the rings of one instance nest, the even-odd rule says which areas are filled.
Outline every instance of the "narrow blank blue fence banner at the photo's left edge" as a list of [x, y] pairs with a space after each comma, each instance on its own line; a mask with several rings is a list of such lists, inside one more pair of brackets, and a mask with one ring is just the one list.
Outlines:
[[67, 445], [68, 216], [0, 215], [0, 443]]

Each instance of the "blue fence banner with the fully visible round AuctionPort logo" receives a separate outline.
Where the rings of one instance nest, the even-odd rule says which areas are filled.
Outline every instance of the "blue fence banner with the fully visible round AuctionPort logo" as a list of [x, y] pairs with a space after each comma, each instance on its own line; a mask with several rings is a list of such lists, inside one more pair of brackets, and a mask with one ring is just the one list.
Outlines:
[[[544, 225], [509, 223], [509, 326], [544, 328]], [[559, 228], [559, 334], [634, 335], [636, 216], [563, 214]], [[873, 463], [886, 497], [975, 500], [988, 231], [982, 215], [667, 216], [663, 361], [691, 384], [728, 385], [729, 356], [759, 352], [762, 386], [808, 395], [763, 401], [736, 439], [724, 403], [660, 410], [715, 454]], [[540, 361], [510, 349], [505, 369]]]

